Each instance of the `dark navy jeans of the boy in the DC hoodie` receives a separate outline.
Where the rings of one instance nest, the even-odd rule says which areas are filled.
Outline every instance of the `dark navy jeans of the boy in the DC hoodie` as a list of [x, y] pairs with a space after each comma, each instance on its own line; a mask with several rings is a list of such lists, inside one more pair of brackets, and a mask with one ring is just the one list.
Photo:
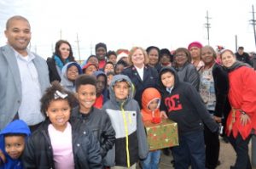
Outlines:
[[205, 169], [205, 153], [203, 131], [181, 133], [179, 145], [172, 148], [175, 169]]

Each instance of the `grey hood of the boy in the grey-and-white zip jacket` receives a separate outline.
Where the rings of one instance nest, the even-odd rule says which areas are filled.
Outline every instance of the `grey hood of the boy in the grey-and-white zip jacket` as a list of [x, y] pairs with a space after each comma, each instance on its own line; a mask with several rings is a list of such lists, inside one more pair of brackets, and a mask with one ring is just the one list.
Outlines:
[[113, 103], [116, 103], [115, 95], [113, 93], [113, 86], [116, 82], [120, 82], [120, 81], [128, 82], [128, 84], [130, 85], [129, 95], [128, 95], [128, 98], [126, 100], [130, 100], [134, 96], [134, 86], [131, 82], [131, 79], [128, 76], [125, 76], [125, 75], [115, 75], [115, 76], [113, 76], [113, 79], [112, 79], [112, 81], [109, 85], [109, 88], [108, 88], [109, 89], [109, 97], [110, 97], [110, 100]]

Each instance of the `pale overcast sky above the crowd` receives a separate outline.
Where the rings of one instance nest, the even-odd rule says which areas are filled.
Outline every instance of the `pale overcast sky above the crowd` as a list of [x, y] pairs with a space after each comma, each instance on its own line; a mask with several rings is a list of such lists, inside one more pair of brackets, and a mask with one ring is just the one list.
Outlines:
[[253, 0], [1, 0], [0, 45], [6, 43], [6, 20], [15, 14], [30, 21], [31, 49], [45, 59], [51, 56], [60, 38], [72, 44], [76, 59], [78, 47], [80, 58], [85, 59], [95, 53], [97, 42], [105, 42], [108, 50], [150, 45], [173, 50], [186, 48], [193, 41], [207, 45], [208, 10], [213, 48], [223, 45], [236, 50], [237, 35], [238, 46], [256, 51], [249, 21], [253, 19], [253, 3], [256, 4]]

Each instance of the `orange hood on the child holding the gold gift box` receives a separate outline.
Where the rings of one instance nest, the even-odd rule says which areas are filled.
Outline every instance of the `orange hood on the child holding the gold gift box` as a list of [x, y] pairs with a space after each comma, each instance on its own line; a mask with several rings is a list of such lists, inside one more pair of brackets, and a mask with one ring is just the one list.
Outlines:
[[[142, 105], [143, 105], [143, 110], [146, 110], [147, 112], [151, 112], [151, 110], [148, 109], [148, 105], [154, 101], [155, 99], [161, 99], [161, 95], [159, 91], [153, 87], [149, 87], [143, 91], [143, 96], [142, 96]], [[160, 101], [158, 104], [157, 109], [160, 107]]]

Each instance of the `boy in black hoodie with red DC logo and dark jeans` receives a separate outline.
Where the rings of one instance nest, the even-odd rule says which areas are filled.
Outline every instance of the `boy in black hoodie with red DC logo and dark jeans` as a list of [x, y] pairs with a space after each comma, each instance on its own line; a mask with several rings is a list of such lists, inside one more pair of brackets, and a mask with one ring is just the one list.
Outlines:
[[163, 93], [161, 110], [177, 122], [179, 146], [172, 148], [175, 168], [205, 169], [203, 123], [212, 132], [218, 125], [208, 114], [199, 93], [187, 82], [179, 82], [172, 67], [160, 70], [160, 89]]

